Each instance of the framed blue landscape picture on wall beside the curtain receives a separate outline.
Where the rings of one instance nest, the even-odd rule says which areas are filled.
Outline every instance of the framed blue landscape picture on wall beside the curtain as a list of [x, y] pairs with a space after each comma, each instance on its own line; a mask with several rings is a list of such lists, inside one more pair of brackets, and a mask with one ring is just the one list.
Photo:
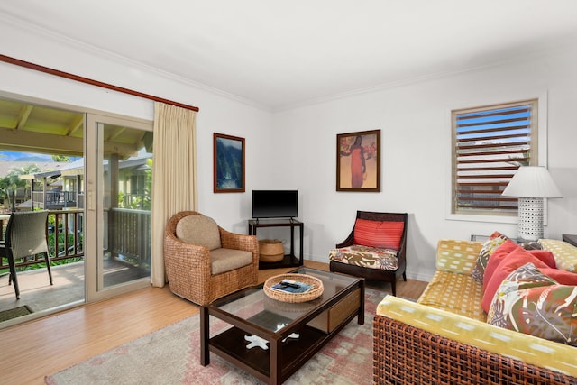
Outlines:
[[244, 192], [244, 138], [213, 133], [215, 193]]

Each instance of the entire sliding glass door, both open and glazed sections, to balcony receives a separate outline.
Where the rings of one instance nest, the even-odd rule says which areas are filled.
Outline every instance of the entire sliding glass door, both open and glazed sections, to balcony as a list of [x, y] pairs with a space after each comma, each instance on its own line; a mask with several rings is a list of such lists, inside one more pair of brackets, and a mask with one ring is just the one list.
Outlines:
[[[0, 240], [49, 211], [43, 256], [0, 261], [0, 327], [150, 285], [152, 123], [0, 94]], [[14, 316], [13, 316], [14, 313]]]

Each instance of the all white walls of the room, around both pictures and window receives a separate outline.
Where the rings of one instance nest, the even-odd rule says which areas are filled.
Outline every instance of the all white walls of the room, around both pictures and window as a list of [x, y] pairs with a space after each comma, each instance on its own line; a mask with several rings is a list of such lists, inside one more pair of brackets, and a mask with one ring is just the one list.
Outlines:
[[[349, 234], [356, 210], [407, 212], [408, 277], [428, 280], [439, 238], [468, 239], [517, 226], [447, 219], [453, 108], [546, 96], [548, 168], [563, 198], [549, 201], [545, 236], [577, 233], [577, 50], [422, 80], [275, 114], [258, 105], [172, 78], [123, 58], [103, 56], [69, 41], [0, 24], [5, 55], [143, 93], [197, 105], [199, 210], [224, 227], [247, 232], [251, 190], [297, 188], [307, 259]], [[152, 119], [152, 103], [134, 96], [0, 63], [0, 91]], [[336, 134], [381, 130], [381, 192], [335, 191]], [[212, 134], [246, 139], [246, 193], [213, 193]], [[282, 231], [261, 236], [287, 239]]]

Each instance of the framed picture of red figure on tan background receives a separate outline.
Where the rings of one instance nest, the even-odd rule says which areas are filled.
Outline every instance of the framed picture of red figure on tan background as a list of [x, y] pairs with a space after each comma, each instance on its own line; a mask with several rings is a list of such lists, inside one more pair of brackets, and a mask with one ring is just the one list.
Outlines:
[[380, 192], [380, 130], [336, 135], [336, 190]]

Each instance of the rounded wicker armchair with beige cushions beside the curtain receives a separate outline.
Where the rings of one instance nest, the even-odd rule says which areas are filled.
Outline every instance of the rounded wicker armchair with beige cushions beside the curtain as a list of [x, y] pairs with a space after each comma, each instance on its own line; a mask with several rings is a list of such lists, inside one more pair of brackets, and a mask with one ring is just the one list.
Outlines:
[[[234, 291], [256, 285], [259, 267], [259, 243], [256, 236], [230, 233], [215, 225], [220, 235], [220, 248], [187, 243], [182, 236], [177, 236], [178, 226], [182, 219], [191, 215], [202, 216], [193, 217], [195, 220], [205, 218], [212, 221], [200, 213], [183, 211], [173, 215], [165, 229], [164, 264], [172, 293], [198, 305], [206, 305]], [[198, 229], [198, 233], [205, 230]], [[192, 235], [193, 238], [196, 236]], [[198, 236], [202, 238], [202, 235]], [[216, 237], [218, 238], [218, 235]], [[234, 251], [245, 253], [236, 258]], [[248, 257], [248, 264], [243, 264], [247, 257], [246, 252], [251, 255]], [[223, 255], [228, 261], [221, 258]], [[216, 265], [217, 263], [219, 265]], [[243, 265], [235, 266], [239, 263]]]

